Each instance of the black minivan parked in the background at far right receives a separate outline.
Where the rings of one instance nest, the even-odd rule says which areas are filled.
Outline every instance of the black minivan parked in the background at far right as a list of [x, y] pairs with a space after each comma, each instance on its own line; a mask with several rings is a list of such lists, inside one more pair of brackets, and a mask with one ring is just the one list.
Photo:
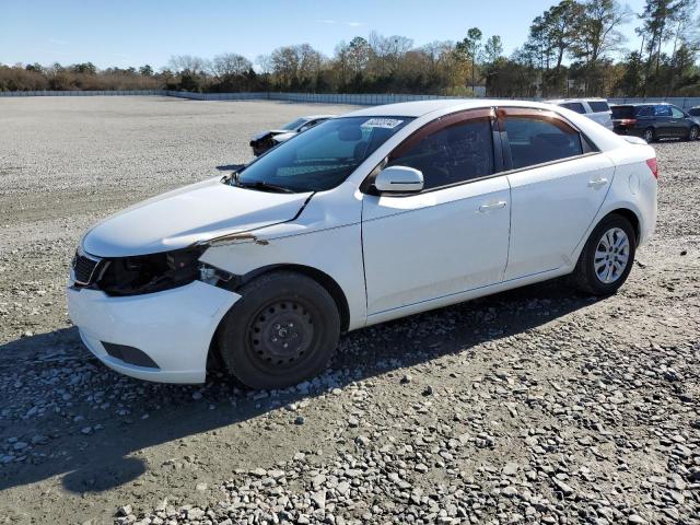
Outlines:
[[612, 126], [618, 135], [641, 137], [646, 142], [700, 137], [698, 117], [665, 102], [614, 105]]

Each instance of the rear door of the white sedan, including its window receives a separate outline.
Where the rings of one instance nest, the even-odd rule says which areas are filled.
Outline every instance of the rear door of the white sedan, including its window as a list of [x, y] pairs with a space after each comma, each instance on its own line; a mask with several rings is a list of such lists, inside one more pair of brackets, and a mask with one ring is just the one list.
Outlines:
[[556, 113], [498, 115], [512, 201], [504, 280], [569, 266], [610, 188], [614, 164]]

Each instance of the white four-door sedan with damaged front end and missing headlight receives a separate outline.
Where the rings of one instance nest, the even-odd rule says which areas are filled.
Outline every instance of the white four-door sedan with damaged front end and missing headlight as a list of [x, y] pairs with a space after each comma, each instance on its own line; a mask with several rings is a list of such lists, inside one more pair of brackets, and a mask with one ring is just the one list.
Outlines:
[[610, 294], [656, 220], [637, 142], [533, 102], [353, 112], [95, 225], [70, 315], [125, 374], [281, 388], [349, 330], [567, 275]]

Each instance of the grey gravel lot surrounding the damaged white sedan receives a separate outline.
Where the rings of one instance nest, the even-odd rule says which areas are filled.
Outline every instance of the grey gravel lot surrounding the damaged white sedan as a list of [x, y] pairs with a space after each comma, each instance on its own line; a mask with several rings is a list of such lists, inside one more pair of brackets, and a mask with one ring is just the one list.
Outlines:
[[550, 282], [359, 330], [272, 393], [83, 349], [84, 229], [346, 109], [0, 98], [0, 523], [700, 523], [700, 142], [657, 144], [657, 232], [615, 296]]

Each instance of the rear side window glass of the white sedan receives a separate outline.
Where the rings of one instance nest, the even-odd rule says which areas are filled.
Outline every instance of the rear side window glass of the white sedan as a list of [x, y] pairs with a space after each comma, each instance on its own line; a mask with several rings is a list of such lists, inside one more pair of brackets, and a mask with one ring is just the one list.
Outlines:
[[504, 121], [514, 170], [583, 154], [581, 136], [562, 120], [518, 115]]

